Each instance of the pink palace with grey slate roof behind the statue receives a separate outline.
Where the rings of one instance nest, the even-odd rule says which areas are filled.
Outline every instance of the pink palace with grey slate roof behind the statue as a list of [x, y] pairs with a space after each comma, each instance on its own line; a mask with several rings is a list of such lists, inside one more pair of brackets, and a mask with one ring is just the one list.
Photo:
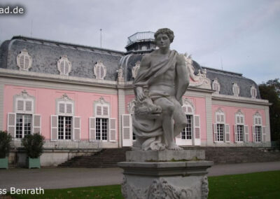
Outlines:
[[[132, 146], [132, 82], [141, 57], [155, 49], [153, 32], [130, 36], [125, 48], [127, 52], [25, 36], [4, 41], [0, 129], [13, 137], [11, 153], [18, 153], [25, 135], [36, 132], [45, 137], [42, 165], [57, 165], [91, 149]], [[188, 125], [176, 143], [269, 146], [269, 102], [260, 99], [258, 85], [242, 74], [185, 58], [190, 85], [182, 109]]]

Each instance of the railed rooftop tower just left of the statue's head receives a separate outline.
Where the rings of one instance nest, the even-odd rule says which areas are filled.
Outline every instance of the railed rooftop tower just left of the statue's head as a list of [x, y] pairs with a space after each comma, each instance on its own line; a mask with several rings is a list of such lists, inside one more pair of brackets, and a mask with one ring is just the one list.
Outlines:
[[128, 37], [127, 53], [132, 51], [134, 53], [142, 53], [142, 51], [155, 49], [154, 32], [137, 32]]

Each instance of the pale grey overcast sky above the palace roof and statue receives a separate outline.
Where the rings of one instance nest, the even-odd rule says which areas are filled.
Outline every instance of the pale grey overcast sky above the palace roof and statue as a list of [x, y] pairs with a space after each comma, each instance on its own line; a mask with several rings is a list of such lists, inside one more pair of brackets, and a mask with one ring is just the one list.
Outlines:
[[204, 67], [256, 83], [280, 77], [280, 0], [1, 0], [24, 15], [0, 15], [0, 41], [32, 36], [125, 51], [135, 32], [174, 31], [172, 49]]

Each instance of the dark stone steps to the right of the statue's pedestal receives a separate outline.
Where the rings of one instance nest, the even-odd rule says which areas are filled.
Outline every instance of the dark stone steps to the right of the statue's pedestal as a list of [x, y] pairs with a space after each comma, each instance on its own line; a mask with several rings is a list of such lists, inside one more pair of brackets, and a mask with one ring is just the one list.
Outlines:
[[261, 163], [280, 161], [280, 151], [256, 147], [184, 147], [184, 149], [204, 149], [206, 160], [216, 164]]

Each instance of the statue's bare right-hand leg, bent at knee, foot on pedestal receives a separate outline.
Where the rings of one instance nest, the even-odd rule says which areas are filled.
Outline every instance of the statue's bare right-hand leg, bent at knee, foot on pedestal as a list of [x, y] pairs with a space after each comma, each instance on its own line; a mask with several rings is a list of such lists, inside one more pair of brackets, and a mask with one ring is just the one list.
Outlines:
[[181, 150], [174, 142], [174, 104], [167, 98], [155, 99], [154, 104], [162, 108], [162, 128], [167, 149]]

